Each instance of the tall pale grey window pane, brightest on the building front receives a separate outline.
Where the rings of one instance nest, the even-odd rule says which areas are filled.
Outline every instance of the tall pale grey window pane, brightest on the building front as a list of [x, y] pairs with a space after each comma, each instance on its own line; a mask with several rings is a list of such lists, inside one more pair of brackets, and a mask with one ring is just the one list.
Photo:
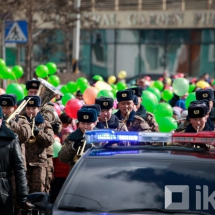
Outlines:
[[139, 46], [117, 45], [116, 46], [116, 72], [127, 72], [127, 77], [139, 74]]

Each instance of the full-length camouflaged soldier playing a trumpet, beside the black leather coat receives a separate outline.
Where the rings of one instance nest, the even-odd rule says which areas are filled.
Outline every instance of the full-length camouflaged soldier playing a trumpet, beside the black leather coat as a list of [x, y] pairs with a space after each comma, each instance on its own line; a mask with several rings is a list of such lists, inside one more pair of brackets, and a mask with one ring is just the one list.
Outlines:
[[28, 121], [32, 124], [32, 138], [26, 143], [26, 163], [29, 192], [45, 192], [47, 147], [54, 143], [54, 132], [51, 124], [43, 118], [40, 111], [41, 98], [39, 96], [26, 96], [31, 98], [25, 108]]

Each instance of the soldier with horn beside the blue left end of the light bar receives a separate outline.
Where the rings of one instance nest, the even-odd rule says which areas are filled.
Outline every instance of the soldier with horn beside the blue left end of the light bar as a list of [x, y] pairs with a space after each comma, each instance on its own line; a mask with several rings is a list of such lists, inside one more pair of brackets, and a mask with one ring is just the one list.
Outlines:
[[79, 127], [72, 132], [63, 142], [63, 147], [58, 154], [61, 162], [69, 164], [72, 168], [75, 164], [74, 156], [79, 147], [83, 146], [85, 131], [96, 129], [98, 112], [93, 108], [81, 108], [78, 111]]

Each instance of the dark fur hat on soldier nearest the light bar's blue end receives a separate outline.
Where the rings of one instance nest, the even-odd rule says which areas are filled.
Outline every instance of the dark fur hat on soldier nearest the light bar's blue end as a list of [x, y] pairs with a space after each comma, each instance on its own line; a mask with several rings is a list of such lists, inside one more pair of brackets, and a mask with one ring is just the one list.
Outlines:
[[93, 108], [81, 108], [78, 111], [79, 122], [95, 122], [98, 119], [98, 112]]

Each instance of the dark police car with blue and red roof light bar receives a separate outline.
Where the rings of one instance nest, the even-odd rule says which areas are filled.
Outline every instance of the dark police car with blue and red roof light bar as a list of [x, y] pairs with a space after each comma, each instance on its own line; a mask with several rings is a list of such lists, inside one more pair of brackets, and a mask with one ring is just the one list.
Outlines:
[[76, 163], [55, 203], [45, 193], [30, 194], [28, 203], [54, 215], [215, 214], [214, 132], [94, 130], [86, 140], [96, 146]]

